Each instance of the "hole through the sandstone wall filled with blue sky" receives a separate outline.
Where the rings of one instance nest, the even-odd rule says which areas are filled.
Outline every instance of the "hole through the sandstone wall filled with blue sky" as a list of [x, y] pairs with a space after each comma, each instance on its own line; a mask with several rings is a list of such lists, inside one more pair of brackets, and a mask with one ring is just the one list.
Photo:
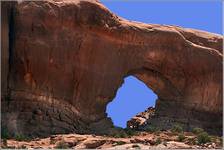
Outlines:
[[149, 107], [155, 107], [158, 96], [135, 76], [124, 78], [115, 98], [107, 105], [106, 112], [114, 126], [127, 127], [127, 121]]

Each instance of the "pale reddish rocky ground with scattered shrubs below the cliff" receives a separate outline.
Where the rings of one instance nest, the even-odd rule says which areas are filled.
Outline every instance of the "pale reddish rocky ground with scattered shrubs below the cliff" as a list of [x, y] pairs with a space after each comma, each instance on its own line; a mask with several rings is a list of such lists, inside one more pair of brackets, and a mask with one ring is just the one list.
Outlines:
[[[199, 139], [197, 134], [190, 132], [175, 133], [173, 131], [134, 132], [133, 135], [116, 134], [113, 136], [64, 134], [52, 135], [47, 138], [25, 140], [1, 140], [1, 148], [44, 148], [44, 149], [149, 149], [149, 148], [178, 148], [178, 149], [221, 149], [222, 139], [209, 136], [209, 141]], [[199, 140], [202, 140], [199, 143]]]

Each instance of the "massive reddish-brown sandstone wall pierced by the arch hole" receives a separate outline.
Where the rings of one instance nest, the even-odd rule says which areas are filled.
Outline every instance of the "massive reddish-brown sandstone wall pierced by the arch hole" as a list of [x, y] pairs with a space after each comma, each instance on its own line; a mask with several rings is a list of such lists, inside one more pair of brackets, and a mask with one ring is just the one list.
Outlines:
[[109, 128], [106, 105], [128, 75], [158, 95], [150, 124], [222, 132], [222, 36], [128, 21], [92, 0], [22, 2], [13, 10], [13, 50], [2, 56], [11, 64], [3, 70], [2, 125], [12, 133]]

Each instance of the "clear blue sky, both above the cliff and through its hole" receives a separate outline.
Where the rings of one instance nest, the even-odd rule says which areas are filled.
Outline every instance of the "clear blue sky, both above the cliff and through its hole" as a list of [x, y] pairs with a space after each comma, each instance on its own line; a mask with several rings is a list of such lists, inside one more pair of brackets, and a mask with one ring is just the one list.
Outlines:
[[[116, 15], [128, 20], [153, 24], [178, 25], [222, 34], [221, 0], [134, 1], [101, 0]], [[130, 76], [107, 106], [114, 124], [126, 122], [138, 112], [155, 105], [157, 96], [137, 78]]]

